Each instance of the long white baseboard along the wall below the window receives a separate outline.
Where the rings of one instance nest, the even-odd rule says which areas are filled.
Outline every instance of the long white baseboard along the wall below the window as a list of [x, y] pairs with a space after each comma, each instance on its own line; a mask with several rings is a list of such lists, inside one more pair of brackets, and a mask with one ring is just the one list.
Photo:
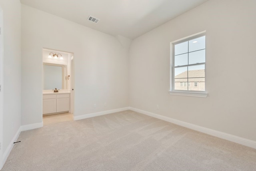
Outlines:
[[184, 121], [180, 121], [180, 120], [177, 120], [177, 119], [172, 119], [170, 117], [158, 115], [158, 114], [155, 114], [155, 113], [151, 113], [151, 112], [148, 112], [148, 111], [136, 109], [136, 108], [133, 108], [133, 107], [130, 107], [130, 110], [136, 111], [136, 112], [148, 115], [148, 116], [152, 116], [152, 117], [164, 120], [164, 121], [168, 121], [170, 123], [174, 123], [174, 124], [180, 125], [182, 127], [193, 129], [193, 130], [196, 130], [196, 131], [199, 131], [199, 132], [202, 132], [202, 133], [206, 133], [206, 134], [209, 134], [209, 135], [212, 135], [212, 136], [215, 136], [215, 137], [226, 139], [228, 141], [232, 141], [234, 143], [242, 144], [242, 145], [245, 145], [245, 146], [252, 147], [252, 148], [256, 149], [256, 141], [252, 141], [250, 139], [245, 139], [245, 138], [242, 138], [242, 137], [238, 137], [236, 135], [231, 135], [231, 134], [216, 131], [216, 130], [213, 130], [213, 129], [208, 129], [206, 127], [201, 127], [201, 126], [198, 126], [198, 125], [194, 125], [194, 124], [187, 123], [187, 122], [184, 122]]

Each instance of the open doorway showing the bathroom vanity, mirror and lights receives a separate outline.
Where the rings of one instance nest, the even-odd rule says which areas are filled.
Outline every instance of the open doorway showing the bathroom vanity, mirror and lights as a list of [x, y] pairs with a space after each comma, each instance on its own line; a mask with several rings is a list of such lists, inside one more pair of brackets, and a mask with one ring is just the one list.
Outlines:
[[50, 125], [73, 120], [74, 54], [42, 50], [43, 123]]

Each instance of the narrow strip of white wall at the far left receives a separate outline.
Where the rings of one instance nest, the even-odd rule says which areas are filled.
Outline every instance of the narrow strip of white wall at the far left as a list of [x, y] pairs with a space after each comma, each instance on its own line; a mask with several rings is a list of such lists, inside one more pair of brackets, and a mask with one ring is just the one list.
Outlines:
[[[0, 0], [4, 16], [3, 144], [4, 153], [20, 128], [21, 19], [19, 0]], [[1, 123], [2, 124], [2, 123]], [[1, 125], [2, 126], [2, 125]], [[0, 166], [1, 167], [1, 166]]]

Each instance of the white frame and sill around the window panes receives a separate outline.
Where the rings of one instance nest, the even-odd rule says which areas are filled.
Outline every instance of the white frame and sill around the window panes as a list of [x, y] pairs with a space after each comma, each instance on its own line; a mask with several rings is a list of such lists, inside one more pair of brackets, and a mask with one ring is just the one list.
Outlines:
[[[206, 31], [187, 36], [185, 38], [175, 40], [170, 42], [170, 95], [183, 95], [183, 96], [193, 96], [193, 97], [207, 97], [208, 93], [206, 92], [206, 80], [205, 80], [205, 91], [194, 91], [194, 90], [175, 90], [174, 89], [174, 44], [187, 42], [189, 40], [205, 36]], [[206, 60], [206, 59], [205, 59]], [[205, 61], [205, 70], [206, 70], [206, 61]], [[206, 78], [206, 73], [205, 73]]]

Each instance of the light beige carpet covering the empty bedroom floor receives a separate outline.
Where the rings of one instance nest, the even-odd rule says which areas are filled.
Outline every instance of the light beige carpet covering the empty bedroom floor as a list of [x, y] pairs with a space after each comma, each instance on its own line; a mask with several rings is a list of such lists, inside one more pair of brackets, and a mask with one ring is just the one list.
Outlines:
[[255, 171], [256, 149], [134, 111], [23, 131], [2, 171]]

